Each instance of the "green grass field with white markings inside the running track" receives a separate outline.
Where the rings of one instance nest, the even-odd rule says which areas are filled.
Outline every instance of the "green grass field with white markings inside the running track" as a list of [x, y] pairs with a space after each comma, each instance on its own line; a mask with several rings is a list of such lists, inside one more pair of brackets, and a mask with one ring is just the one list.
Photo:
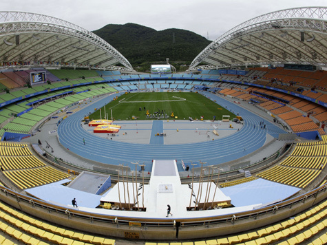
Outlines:
[[[144, 110], [144, 107], [146, 110]], [[104, 107], [101, 108], [102, 119], [105, 118], [104, 111], [106, 111], [108, 119], [111, 119], [110, 109], [112, 109], [115, 120], [131, 120], [132, 116], [136, 116], [139, 120], [147, 120], [147, 110], [149, 110], [150, 114], [163, 111], [164, 115], [166, 111], [169, 118], [173, 111], [174, 116], [177, 116], [179, 120], [189, 119], [189, 117], [200, 119], [201, 116], [204, 117], [204, 120], [212, 120], [213, 116], [215, 116], [216, 120], [222, 120], [222, 115], [235, 118], [235, 114], [231, 113], [231, 111], [194, 92], [123, 94], [117, 100], [105, 105], [105, 109]], [[100, 119], [100, 110], [94, 111], [89, 118]]]

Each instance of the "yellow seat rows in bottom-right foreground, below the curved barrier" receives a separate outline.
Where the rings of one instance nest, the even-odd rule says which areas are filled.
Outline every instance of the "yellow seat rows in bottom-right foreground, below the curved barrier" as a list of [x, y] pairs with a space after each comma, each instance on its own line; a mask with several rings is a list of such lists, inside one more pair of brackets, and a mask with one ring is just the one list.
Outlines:
[[[207, 239], [195, 242], [170, 242], [167, 244], [301, 244], [319, 234], [313, 244], [324, 244], [327, 242], [327, 213], [325, 211], [327, 201], [315, 206], [302, 214], [291, 219], [277, 222], [269, 226], [258, 229], [257, 231], [249, 231], [248, 233], [238, 233], [235, 235], [227, 235], [226, 237], [218, 237], [217, 239]], [[316, 241], [316, 243], [315, 243]], [[158, 245], [162, 243], [145, 242], [146, 245]], [[307, 243], [306, 243], [307, 244]]]

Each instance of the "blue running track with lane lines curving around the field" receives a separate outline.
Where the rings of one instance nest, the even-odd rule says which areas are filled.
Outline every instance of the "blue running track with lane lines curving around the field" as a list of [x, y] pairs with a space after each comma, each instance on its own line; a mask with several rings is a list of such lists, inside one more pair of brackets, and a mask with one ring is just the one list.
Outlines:
[[[92, 109], [85, 107], [63, 120], [58, 127], [59, 142], [63, 147], [70, 149], [70, 151], [83, 158], [114, 165], [124, 163], [131, 168], [134, 168], [134, 165], [130, 162], [140, 160], [140, 163], [145, 164], [145, 171], [151, 171], [152, 160], [154, 159], [176, 159], [183, 160], [184, 162], [197, 162], [201, 160], [208, 164], [220, 164], [235, 160], [262, 147], [267, 133], [273, 137], [286, 133], [271, 122], [262, 119], [260, 116], [247, 111], [235, 103], [231, 103], [209, 92], [204, 92], [203, 94], [223, 107], [239, 113], [244, 118], [242, 129], [231, 136], [218, 140], [180, 145], [158, 145], [151, 142], [151, 139], [149, 145], [117, 142], [89, 134], [81, 127], [81, 120], [94, 107], [103, 107], [103, 105], [109, 103], [114, 96], [117, 96], [117, 94], [114, 94], [92, 104], [90, 106]], [[262, 121], [266, 124], [265, 130], [259, 127]], [[256, 125], [255, 128], [253, 124]], [[83, 145], [83, 138], [85, 138], [86, 145]], [[164, 137], [156, 136], [156, 138]], [[244, 148], [246, 148], [245, 152]], [[178, 171], [182, 171], [180, 164], [178, 164]]]

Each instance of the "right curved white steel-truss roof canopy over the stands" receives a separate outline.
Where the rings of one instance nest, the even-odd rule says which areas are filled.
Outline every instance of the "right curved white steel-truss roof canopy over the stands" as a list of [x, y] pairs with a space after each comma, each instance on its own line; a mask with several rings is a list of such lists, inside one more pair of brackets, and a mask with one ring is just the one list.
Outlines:
[[235, 26], [192, 61], [215, 67], [298, 63], [326, 65], [327, 8], [290, 8]]

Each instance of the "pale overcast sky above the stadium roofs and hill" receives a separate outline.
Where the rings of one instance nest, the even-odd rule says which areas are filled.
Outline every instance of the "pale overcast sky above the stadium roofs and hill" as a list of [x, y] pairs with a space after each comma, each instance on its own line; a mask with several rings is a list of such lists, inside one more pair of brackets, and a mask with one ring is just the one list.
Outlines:
[[107, 24], [137, 23], [155, 30], [178, 28], [210, 40], [261, 14], [306, 6], [327, 6], [326, 0], [9, 0], [2, 11], [24, 11], [70, 21], [87, 30]]

